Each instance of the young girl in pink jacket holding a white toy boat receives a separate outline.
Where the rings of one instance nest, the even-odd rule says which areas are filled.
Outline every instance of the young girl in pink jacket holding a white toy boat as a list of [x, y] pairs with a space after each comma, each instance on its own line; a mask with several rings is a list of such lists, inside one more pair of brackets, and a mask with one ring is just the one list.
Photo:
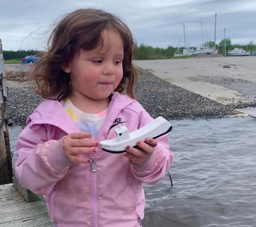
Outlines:
[[98, 147], [119, 123], [132, 132], [153, 120], [133, 96], [131, 31], [113, 14], [78, 9], [48, 45], [33, 71], [46, 101], [18, 138], [17, 180], [44, 195], [54, 226], [141, 226], [143, 183], [157, 183], [172, 163], [168, 135], [121, 154]]

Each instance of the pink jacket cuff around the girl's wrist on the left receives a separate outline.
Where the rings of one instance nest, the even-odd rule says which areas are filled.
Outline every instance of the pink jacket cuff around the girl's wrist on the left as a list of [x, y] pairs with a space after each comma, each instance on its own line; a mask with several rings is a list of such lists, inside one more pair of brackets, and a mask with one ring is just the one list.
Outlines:
[[54, 142], [47, 150], [47, 159], [49, 163], [58, 171], [62, 171], [72, 164], [64, 154], [62, 147], [63, 139], [64, 137]]

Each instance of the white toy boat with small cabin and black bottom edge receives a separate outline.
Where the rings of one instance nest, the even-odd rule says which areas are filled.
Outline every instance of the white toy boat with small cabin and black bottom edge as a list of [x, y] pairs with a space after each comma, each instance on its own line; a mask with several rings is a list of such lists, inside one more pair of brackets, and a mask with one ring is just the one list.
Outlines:
[[99, 142], [99, 145], [104, 151], [119, 154], [125, 152], [125, 147], [127, 145], [135, 147], [139, 140], [145, 141], [148, 137], [156, 139], [171, 130], [171, 124], [163, 117], [158, 117], [131, 133], [128, 132], [128, 129], [125, 126], [119, 124], [119, 128], [115, 129], [117, 138], [101, 141]]

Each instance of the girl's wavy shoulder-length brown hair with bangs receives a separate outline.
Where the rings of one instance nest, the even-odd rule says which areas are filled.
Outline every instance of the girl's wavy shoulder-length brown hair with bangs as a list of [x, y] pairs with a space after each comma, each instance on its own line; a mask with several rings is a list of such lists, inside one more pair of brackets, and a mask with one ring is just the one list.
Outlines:
[[117, 31], [124, 45], [123, 77], [115, 91], [121, 93], [126, 89], [127, 95], [135, 99], [133, 92], [138, 69], [132, 64], [132, 55], [136, 42], [119, 17], [100, 9], [77, 9], [57, 23], [48, 40], [48, 50], [32, 70], [36, 93], [46, 99], [67, 98], [70, 77], [61, 69], [61, 65], [72, 60], [81, 48], [91, 50], [102, 45], [102, 31], [110, 28]]

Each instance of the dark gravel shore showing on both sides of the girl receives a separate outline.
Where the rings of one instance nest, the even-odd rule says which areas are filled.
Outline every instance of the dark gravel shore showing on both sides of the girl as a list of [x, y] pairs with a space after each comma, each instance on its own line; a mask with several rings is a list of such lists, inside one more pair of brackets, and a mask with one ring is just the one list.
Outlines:
[[[8, 117], [13, 125], [25, 125], [27, 117], [43, 100], [33, 91], [30, 82], [19, 79], [18, 75], [17, 78], [10, 76], [17, 73], [21, 78], [24, 78], [24, 75], [26, 78], [28, 70], [27, 65], [5, 65], [9, 88]], [[167, 120], [179, 120], [223, 117], [239, 113], [232, 105], [224, 105], [205, 98], [170, 84], [147, 71], [142, 71], [139, 75], [135, 95], [153, 118], [162, 116]]]

